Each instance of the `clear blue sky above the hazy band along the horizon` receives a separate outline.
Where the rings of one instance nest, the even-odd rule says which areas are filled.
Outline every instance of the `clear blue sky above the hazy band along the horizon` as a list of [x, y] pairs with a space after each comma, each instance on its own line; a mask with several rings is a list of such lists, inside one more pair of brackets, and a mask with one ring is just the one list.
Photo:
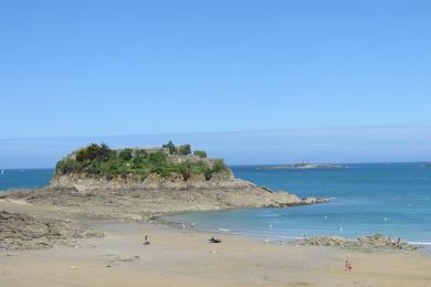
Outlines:
[[407, 0], [2, 0], [0, 139], [402, 135], [431, 125], [430, 12]]

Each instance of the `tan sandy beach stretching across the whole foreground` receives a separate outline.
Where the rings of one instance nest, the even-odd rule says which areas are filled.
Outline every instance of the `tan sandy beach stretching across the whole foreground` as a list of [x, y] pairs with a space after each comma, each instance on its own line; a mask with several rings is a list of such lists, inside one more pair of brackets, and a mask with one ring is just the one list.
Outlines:
[[[263, 238], [92, 221], [104, 238], [0, 253], [0, 286], [431, 286], [424, 251], [344, 251]], [[148, 235], [150, 245], [144, 246]], [[354, 269], [345, 270], [349, 259]]]

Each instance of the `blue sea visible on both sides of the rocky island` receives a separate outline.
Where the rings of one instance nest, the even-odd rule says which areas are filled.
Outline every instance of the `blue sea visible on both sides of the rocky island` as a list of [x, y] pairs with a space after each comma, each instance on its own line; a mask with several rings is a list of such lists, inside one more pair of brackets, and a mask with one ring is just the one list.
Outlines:
[[[235, 177], [298, 196], [330, 202], [276, 209], [187, 212], [168, 216], [196, 228], [272, 238], [313, 235], [358, 237], [382, 233], [431, 244], [431, 167], [425, 163], [356, 163], [341, 168], [231, 167]], [[0, 170], [1, 173], [1, 170]], [[52, 169], [4, 170], [0, 190], [49, 184]]]

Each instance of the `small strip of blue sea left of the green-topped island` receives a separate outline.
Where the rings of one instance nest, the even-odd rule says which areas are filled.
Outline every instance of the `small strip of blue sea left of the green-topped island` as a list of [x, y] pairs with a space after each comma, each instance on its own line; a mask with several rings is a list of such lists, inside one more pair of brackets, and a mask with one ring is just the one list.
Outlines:
[[0, 169], [0, 191], [48, 185], [53, 169]]

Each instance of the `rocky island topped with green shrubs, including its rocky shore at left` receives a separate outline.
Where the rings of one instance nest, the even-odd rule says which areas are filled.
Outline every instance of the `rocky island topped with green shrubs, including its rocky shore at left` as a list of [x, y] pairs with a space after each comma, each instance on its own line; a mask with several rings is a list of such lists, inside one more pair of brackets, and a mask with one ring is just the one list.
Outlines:
[[[80, 226], [71, 232], [70, 226], [76, 225], [73, 219], [145, 222], [182, 211], [283, 208], [327, 201], [301, 199], [236, 179], [223, 160], [209, 159], [204, 151], [192, 152], [189, 145], [176, 147], [171, 141], [160, 148], [125, 149], [92, 144], [60, 160], [49, 187], [2, 192], [0, 200], [4, 210], [0, 228], [8, 234], [20, 234], [31, 226], [38, 230], [30, 232], [32, 236], [15, 236], [15, 241], [0, 237], [3, 246], [18, 248], [51, 246], [52, 240], [71, 234], [101, 236]], [[42, 213], [43, 219], [24, 214], [21, 222], [25, 222], [25, 228], [11, 224], [22, 212], [32, 216]], [[24, 244], [25, 238], [35, 240], [34, 244]]]

